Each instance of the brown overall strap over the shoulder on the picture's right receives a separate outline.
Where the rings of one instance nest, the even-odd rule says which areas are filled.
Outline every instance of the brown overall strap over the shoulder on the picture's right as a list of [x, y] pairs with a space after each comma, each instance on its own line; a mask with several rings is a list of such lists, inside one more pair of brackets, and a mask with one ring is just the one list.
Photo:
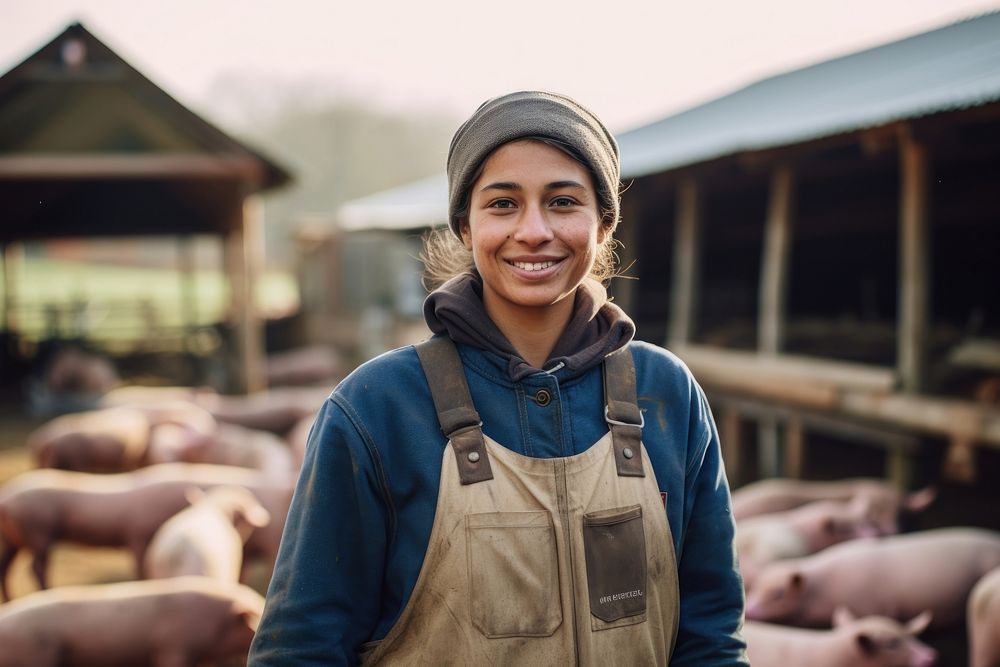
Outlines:
[[628, 347], [604, 358], [604, 419], [611, 429], [619, 477], [645, 477], [642, 468], [642, 412], [635, 389], [635, 363]]

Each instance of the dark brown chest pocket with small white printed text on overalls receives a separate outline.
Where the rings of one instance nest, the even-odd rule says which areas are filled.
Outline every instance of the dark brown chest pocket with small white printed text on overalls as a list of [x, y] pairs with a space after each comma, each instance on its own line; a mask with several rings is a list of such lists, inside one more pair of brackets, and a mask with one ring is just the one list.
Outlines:
[[583, 515], [591, 628], [646, 620], [646, 535], [642, 506]]

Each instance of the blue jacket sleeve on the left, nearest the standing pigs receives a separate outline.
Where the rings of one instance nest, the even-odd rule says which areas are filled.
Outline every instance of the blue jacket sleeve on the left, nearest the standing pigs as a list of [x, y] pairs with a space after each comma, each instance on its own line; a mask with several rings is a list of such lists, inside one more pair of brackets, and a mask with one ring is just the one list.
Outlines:
[[248, 665], [353, 665], [377, 622], [388, 504], [363, 425], [320, 409]]

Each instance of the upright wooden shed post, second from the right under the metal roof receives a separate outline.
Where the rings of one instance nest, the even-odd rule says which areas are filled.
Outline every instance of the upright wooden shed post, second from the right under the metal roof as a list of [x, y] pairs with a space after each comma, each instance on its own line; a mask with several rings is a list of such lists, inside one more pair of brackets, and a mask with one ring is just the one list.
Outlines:
[[784, 342], [785, 297], [788, 292], [788, 257], [792, 234], [793, 175], [781, 165], [771, 176], [771, 193], [761, 258], [760, 320], [757, 349], [777, 354]]

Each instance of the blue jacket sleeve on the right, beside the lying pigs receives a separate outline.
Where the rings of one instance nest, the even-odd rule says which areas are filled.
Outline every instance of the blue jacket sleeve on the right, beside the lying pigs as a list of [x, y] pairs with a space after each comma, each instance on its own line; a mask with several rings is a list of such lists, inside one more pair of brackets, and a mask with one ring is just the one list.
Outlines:
[[[693, 381], [692, 381], [693, 384]], [[672, 667], [749, 665], [741, 631], [745, 604], [735, 524], [718, 432], [693, 386], [685, 471], [685, 525], [678, 556], [680, 625]]]

